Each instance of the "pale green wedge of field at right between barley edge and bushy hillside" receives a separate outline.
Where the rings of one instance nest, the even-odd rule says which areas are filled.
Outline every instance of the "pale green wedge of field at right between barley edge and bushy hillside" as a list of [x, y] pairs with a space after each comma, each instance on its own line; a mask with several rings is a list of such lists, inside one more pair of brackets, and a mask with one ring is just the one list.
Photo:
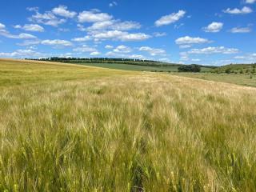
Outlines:
[[256, 74], [174, 73], [174, 75], [256, 87]]

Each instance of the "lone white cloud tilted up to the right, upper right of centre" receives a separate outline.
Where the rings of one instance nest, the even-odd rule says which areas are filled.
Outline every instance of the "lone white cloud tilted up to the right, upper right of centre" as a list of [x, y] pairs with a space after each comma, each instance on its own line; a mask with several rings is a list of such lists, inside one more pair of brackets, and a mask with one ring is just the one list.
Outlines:
[[185, 10], [179, 10], [178, 13], [162, 16], [158, 21], [154, 22], [155, 26], [170, 25], [171, 23], [178, 22], [180, 18], [183, 18], [186, 14]]

